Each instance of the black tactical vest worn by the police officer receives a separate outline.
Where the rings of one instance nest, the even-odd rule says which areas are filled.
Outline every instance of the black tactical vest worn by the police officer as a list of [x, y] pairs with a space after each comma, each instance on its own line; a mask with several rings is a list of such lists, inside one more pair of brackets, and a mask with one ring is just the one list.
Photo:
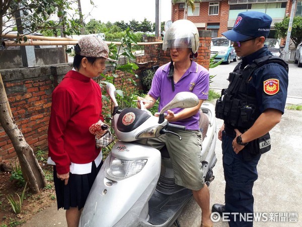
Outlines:
[[260, 116], [260, 110], [256, 90], [250, 86], [249, 82], [255, 70], [269, 63], [277, 63], [288, 72], [288, 65], [282, 59], [272, 55], [256, 59], [244, 69], [240, 69], [241, 64], [235, 67], [228, 78], [229, 87], [222, 89], [221, 97], [216, 101], [216, 118], [238, 129], [249, 129], [255, 123]]

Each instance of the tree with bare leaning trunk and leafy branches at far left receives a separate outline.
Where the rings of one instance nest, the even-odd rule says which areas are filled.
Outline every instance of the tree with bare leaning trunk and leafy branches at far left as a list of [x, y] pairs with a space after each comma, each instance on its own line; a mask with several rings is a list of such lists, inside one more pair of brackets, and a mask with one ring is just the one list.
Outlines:
[[[74, 1], [75, 0], [0, 1], [0, 38], [3, 36], [3, 33], [8, 33], [13, 28], [17, 28], [18, 32], [21, 31], [20, 34], [23, 34], [23, 31], [31, 33], [38, 30], [55, 30], [56, 28], [64, 27], [62, 31], [65, 35], [71, 33], [80, 34], [80, 30], [78, 29], [81, 28], [81, 24], [73, 20], [73, 18], [76, 17], [68, 13], [78, 12], [77, 9], [71, 7]], [[47, 23], [53, 14], [56, 14], [60, 20], [54, 23]], [[21, 23], [19, 23], [19, 21]], [[80, 22], [80, 20], [78, 21]], [[27, 41], [27, 38], [20, 36], [16, 41]], [[38, 193], [46, 184], [44, 174], [35, 158], [33, 149], [25, 141], [22, 132], [18, 129], [12, 117], [1, 74], [0, 103], [0, 123], [12, 141], [25, 180], [28, 181], [31, 190], [34, 193]]]

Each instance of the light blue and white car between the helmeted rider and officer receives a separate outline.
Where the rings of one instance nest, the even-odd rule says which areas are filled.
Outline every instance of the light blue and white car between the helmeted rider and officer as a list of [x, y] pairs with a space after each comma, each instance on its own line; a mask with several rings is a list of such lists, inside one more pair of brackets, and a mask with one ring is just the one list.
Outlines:
[[233, 60], [234, 62], [237, 61], [237, 54], [235, 52], [235, 48], [233, 47], [233, 42], [225, 37], [212, 38], [211, 57], [216, 53], [218, 54], [214, 58], [215, 62], [219, 62], [221, 59], [223, 59], [222, 62], [226, 64], [230, 64], [231, 60]]

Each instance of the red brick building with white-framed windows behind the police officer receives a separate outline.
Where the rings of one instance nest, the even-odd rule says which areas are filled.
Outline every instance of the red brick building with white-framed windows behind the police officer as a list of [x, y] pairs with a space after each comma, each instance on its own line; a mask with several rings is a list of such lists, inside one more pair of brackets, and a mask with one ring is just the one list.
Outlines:
[[[233, 28], [237, 15], [245, 11], [260, 11], [272, 17], [269, 38], [274, 38], [274, 24], [290, 15], [291, 0], [218, 0], [195, 3], [195, 10], [188, 7], [187, 19], [200, 30], [211, 30], [212, 37], [221, 37], [221, 33]], [[301, 2], [297, 4], [297, 12], [301, 14]], [[172, 4], [172, 21], [183, 19], [185, 1]], [[298, 11], [299, 10], [299, 11]]]

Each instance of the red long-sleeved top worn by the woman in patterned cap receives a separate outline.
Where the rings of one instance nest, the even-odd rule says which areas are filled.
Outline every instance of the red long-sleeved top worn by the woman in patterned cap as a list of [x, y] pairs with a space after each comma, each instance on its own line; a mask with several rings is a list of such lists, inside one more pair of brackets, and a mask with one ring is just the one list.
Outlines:
[[69, 172], [71, 162], [92, 162], [100, 153], [89, 127], [104, 120], [102, 92], [91, 78], [69, 71], [52, 92], [48, 127], [48, 156], [58, 174]]

